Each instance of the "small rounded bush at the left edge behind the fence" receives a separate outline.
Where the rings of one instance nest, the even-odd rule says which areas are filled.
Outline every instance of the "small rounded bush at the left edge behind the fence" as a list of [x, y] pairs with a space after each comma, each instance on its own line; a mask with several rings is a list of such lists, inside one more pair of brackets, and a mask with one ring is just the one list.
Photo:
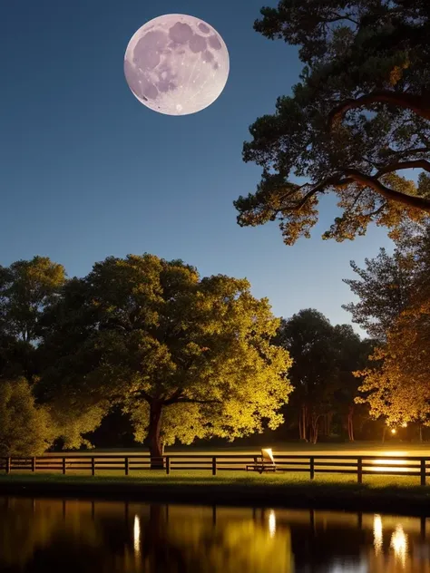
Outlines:
[[53, 440], [49, 414], [35, 405], [24, 378], [0, 380], [0, 455], [41, 455]]

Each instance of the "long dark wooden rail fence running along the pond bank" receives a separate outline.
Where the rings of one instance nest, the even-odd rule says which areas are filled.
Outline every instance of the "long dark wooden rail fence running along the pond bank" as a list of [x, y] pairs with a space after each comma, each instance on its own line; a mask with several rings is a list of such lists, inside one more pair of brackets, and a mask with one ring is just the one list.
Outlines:
[[[168, 454], [158, 460], [163, 471], [207, 470], [212, 475], [219, 471], [245, 471], [254, 464], [257, 454]], [[416, 476], [425, 485], [430, 476], [430, 457], [421, 456], [354, 456], [354, 455], [294, 455], [274, 454], [277, 472], [303, 472], [310, 480], [317, 473], [340, 473], [357, 475], [362, 483], [364, 475]], [[154, 460], [152, 460], [153, 462]], [[132, 471], [151, 469], [151, 457], [146, 455], [87, 455], [64, 454], [44, 455], [34, 458], [0, 458], [0, 470], [12, 471], [59, 471], [63, 474], [73, 471], [121, 471], [129, 475]]]

